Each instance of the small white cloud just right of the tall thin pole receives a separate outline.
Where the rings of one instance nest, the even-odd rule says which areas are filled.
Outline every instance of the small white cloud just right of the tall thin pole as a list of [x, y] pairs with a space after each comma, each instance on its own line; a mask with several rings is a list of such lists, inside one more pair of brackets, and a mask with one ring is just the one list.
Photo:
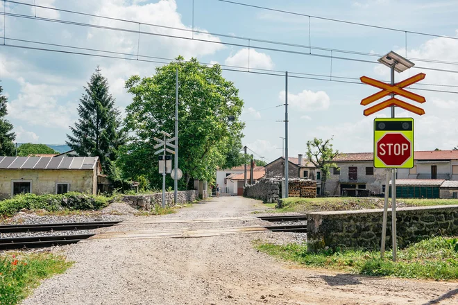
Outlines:
[[[280, 101], [285, 101], [285, 90], [278, 94]], [[288, 103], [296, 110], [315, 111], [327, 110], [330, 105], [330, 98], [324, 91], [312, 92], [304, 90], [298, 94], [288, 93]]]

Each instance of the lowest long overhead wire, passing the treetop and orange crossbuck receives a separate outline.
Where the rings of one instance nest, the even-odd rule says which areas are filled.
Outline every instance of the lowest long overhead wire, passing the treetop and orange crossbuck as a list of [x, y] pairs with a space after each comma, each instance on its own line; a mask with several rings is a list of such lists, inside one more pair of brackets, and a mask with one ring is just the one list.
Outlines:
[[[7, 46], [7, 47], [12, 47], [12, 48], [19, 48], [19, 49], [29, 49], [29, 50], [35, 50], [35, 51], [49, 51], [49, 52], [55, 52], [55, 53], [66, 53], [66, 54], [73, 54], [73, 55], [85, 55], [85, 56], [94, 56], [94, 57], [99, 57], [99, 58], [111, 58], [111, 59], [118, 59], [118, 60], [132, 60], [132, 61], [137, 61], [137, 62], [152, 62], [152, 63], [157, 63], [157, 64], [169, 64], [170, 62], [173, 62], [171, 59], [165, 59], [164, 60], [169, 60], [169, 62], [164, 62], [164, 61], [159, 61], [159, 60], [144, 60], [140, 59], [144, 57], [144, 55], [139, 55], [139, 59], [136, 58], [121, 58], [117, 56], [112, 56], [112, 55], [101, 55], [101, 54], [93, 54], [93, 53], [82, 53], [82, 52], [74, 52], [74, 51], [64, 51], [64, 50], [56, 50], [56, 49], [44, 49], [44, 48], [35, 48], [31, 46], [19, 46], [15, 44], [2, 44], [0, 46]], [[63, 45], [62, 45], [63, 46]], [[65, 46], [67, 48], [72, 48], [71, 46]], [[80, 48], [84, 49], [84, 48]], [[90, 49], [92, 51], [97, 51], [101, 53], [105, 53], [105, 51], [101, 50], [96, 50], [96, 49]], [[121, 53], [121, 54], [126, 54], [126, 53]], [[134, 54], [128, 54], [131, 56], [135, 56]], [[151, 57], [152, 58], [152, 57]], [[205, 63], [202, 63], [205, 64]], [[237, 67], [236, 67], [237, 68]], [[246, 69], [244, 67], [239, 67], [240, 69]], [[285, 74], [283, 73], [269, 73], [269, 72], [263, 72], [263, 71], [244, 71], [244, 70], [237, 70], [237, 69], [230, 69], [230, 68], [223, 68], [221, 66], [221, 69], [223, 71], [235, 71], [235, 72], [242, 72], [242, 73], [253, 73], [253, 74], [258, 74], [258, 75], [266, 75], [266, 76], [278, 76], [281, 78], [285, 78]], [[258, 69], [260, 70], [260, 69]], [[291, 73], [294, 74], [294, 73]], [[301, 73], [304, 74], [304, 73]], [[341, 82], [341, 83], [347, 83], [347, 84], [356, 84], [356, 85], [365, 85], [362, 82], [350, 82], [346, 80], [332, 80], [332, 79], [325, 79], [325, 78], [314, 78], [314, 77], [307, 77], [307, 76], [296, 76], [296, 75], [289, 75], [289, 78], [298, 78], [298, 79], [306, 79], [306, 80], [322, 80], [326, 82]], [[329, 77], [329, 76], [328, 76]], [[423, 91], [430, 91], [430, 92], [442, 92], [442, 93], [449, 93], [449, 94], [458, 94], [458, 92], [451, 92], [451, 91], [445, 91], [445, 90], [433, 90], [433, 89], [419, 89], [416, 87], [410, 87], [409, 89], [413, 90], [423, 90]], [[277, 106], [275, 106], [277, 107]]]

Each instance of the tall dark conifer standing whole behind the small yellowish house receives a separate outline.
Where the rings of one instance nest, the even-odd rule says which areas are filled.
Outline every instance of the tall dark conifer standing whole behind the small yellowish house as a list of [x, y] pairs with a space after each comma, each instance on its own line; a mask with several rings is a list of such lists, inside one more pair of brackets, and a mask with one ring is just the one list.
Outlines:
[[99, 67], [84, 91], [78, 105], [80, 118], [75, 127], [70, 127], [73, 135], [67, 134], [67, 145], [80, 156], [98, 156], [104, 173], [110, 173], [115, 152], [126, 141], [126, 135], [114, 98], [108, 92], [108, 80]]

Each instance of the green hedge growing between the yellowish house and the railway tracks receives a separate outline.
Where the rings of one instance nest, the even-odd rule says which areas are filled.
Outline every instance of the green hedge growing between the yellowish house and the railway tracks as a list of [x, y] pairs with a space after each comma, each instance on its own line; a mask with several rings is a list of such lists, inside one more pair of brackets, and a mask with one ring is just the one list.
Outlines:
[[63, 195], [21, 194], [0, 201], [0, 216], [12, 216], [21, 209], [44, 209], [46, 211], [97, 210], [106, 207], [112, 198], [87, 193], [69, 192]]

